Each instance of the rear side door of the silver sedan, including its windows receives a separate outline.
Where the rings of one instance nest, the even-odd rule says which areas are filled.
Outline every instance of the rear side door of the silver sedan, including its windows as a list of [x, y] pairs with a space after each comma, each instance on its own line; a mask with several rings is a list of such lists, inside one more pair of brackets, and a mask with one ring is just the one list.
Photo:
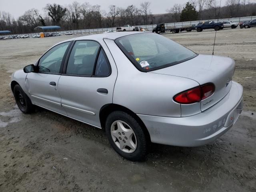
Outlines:
[[100, 108], [112, 103], [116, 76], [114, 60], [104, 42], [76, 41], [58, 82], [68, 116], [100, 127]]

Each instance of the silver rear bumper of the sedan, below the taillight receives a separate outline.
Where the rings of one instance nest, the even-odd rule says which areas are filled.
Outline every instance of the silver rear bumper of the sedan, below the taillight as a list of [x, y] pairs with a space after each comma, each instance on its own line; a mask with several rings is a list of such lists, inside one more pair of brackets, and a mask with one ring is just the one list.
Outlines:
[[138, 114], [151, 141], [173, 146], [201, 146], [228, 131], [243, 107], [243, 88], [232, 81], [228, 94], [211, 108], [188, 117], [161, 117]]

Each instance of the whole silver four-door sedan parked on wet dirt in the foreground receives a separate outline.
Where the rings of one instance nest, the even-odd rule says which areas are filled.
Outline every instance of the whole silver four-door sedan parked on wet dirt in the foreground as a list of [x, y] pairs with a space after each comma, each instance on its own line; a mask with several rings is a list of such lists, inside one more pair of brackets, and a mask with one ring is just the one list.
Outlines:
[[150, 142], [200, 146], [242, 112], [228, 57], [196, 54], [153, 33], [103, 33], [66, 40], [12, 74], [20, 110], [40, 106], [98, 128], [129, 160]]

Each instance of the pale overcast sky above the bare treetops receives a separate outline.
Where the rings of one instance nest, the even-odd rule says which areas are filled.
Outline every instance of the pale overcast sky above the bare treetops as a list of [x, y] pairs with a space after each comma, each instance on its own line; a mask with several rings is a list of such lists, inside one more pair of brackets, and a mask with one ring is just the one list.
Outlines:
[[[166, 13], [166, 9], [172, 7], [175, 3], [185, 4], [188, 0], [76, 0], [77, 2], [84, 3], [89, 2], [90, 4], [99, 4], [102, 10], [108, 10], [110, 4], [126, 8], [128, 5], [140, 6], [141, 2], [151, 2], [150, 10], [153, 14]], [[225, 0], [223, 0], [225, 1]], [[68, 5], [73, 0], [0, 0], [0, 11], [9, 12], [14, 18], [18, 18], [26, 10], [36, 8], [41, 14], [44, 13], [42, 8], [48, 3], [56, 3], [61, 5]]]

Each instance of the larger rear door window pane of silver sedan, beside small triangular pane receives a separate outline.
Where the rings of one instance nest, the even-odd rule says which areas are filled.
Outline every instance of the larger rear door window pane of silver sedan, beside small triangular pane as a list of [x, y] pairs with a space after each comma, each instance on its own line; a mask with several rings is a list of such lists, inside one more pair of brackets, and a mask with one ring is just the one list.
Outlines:
[[68, 59], [66, 74], [92, 75], [100, 44], [95, 41], [76, 41]]

